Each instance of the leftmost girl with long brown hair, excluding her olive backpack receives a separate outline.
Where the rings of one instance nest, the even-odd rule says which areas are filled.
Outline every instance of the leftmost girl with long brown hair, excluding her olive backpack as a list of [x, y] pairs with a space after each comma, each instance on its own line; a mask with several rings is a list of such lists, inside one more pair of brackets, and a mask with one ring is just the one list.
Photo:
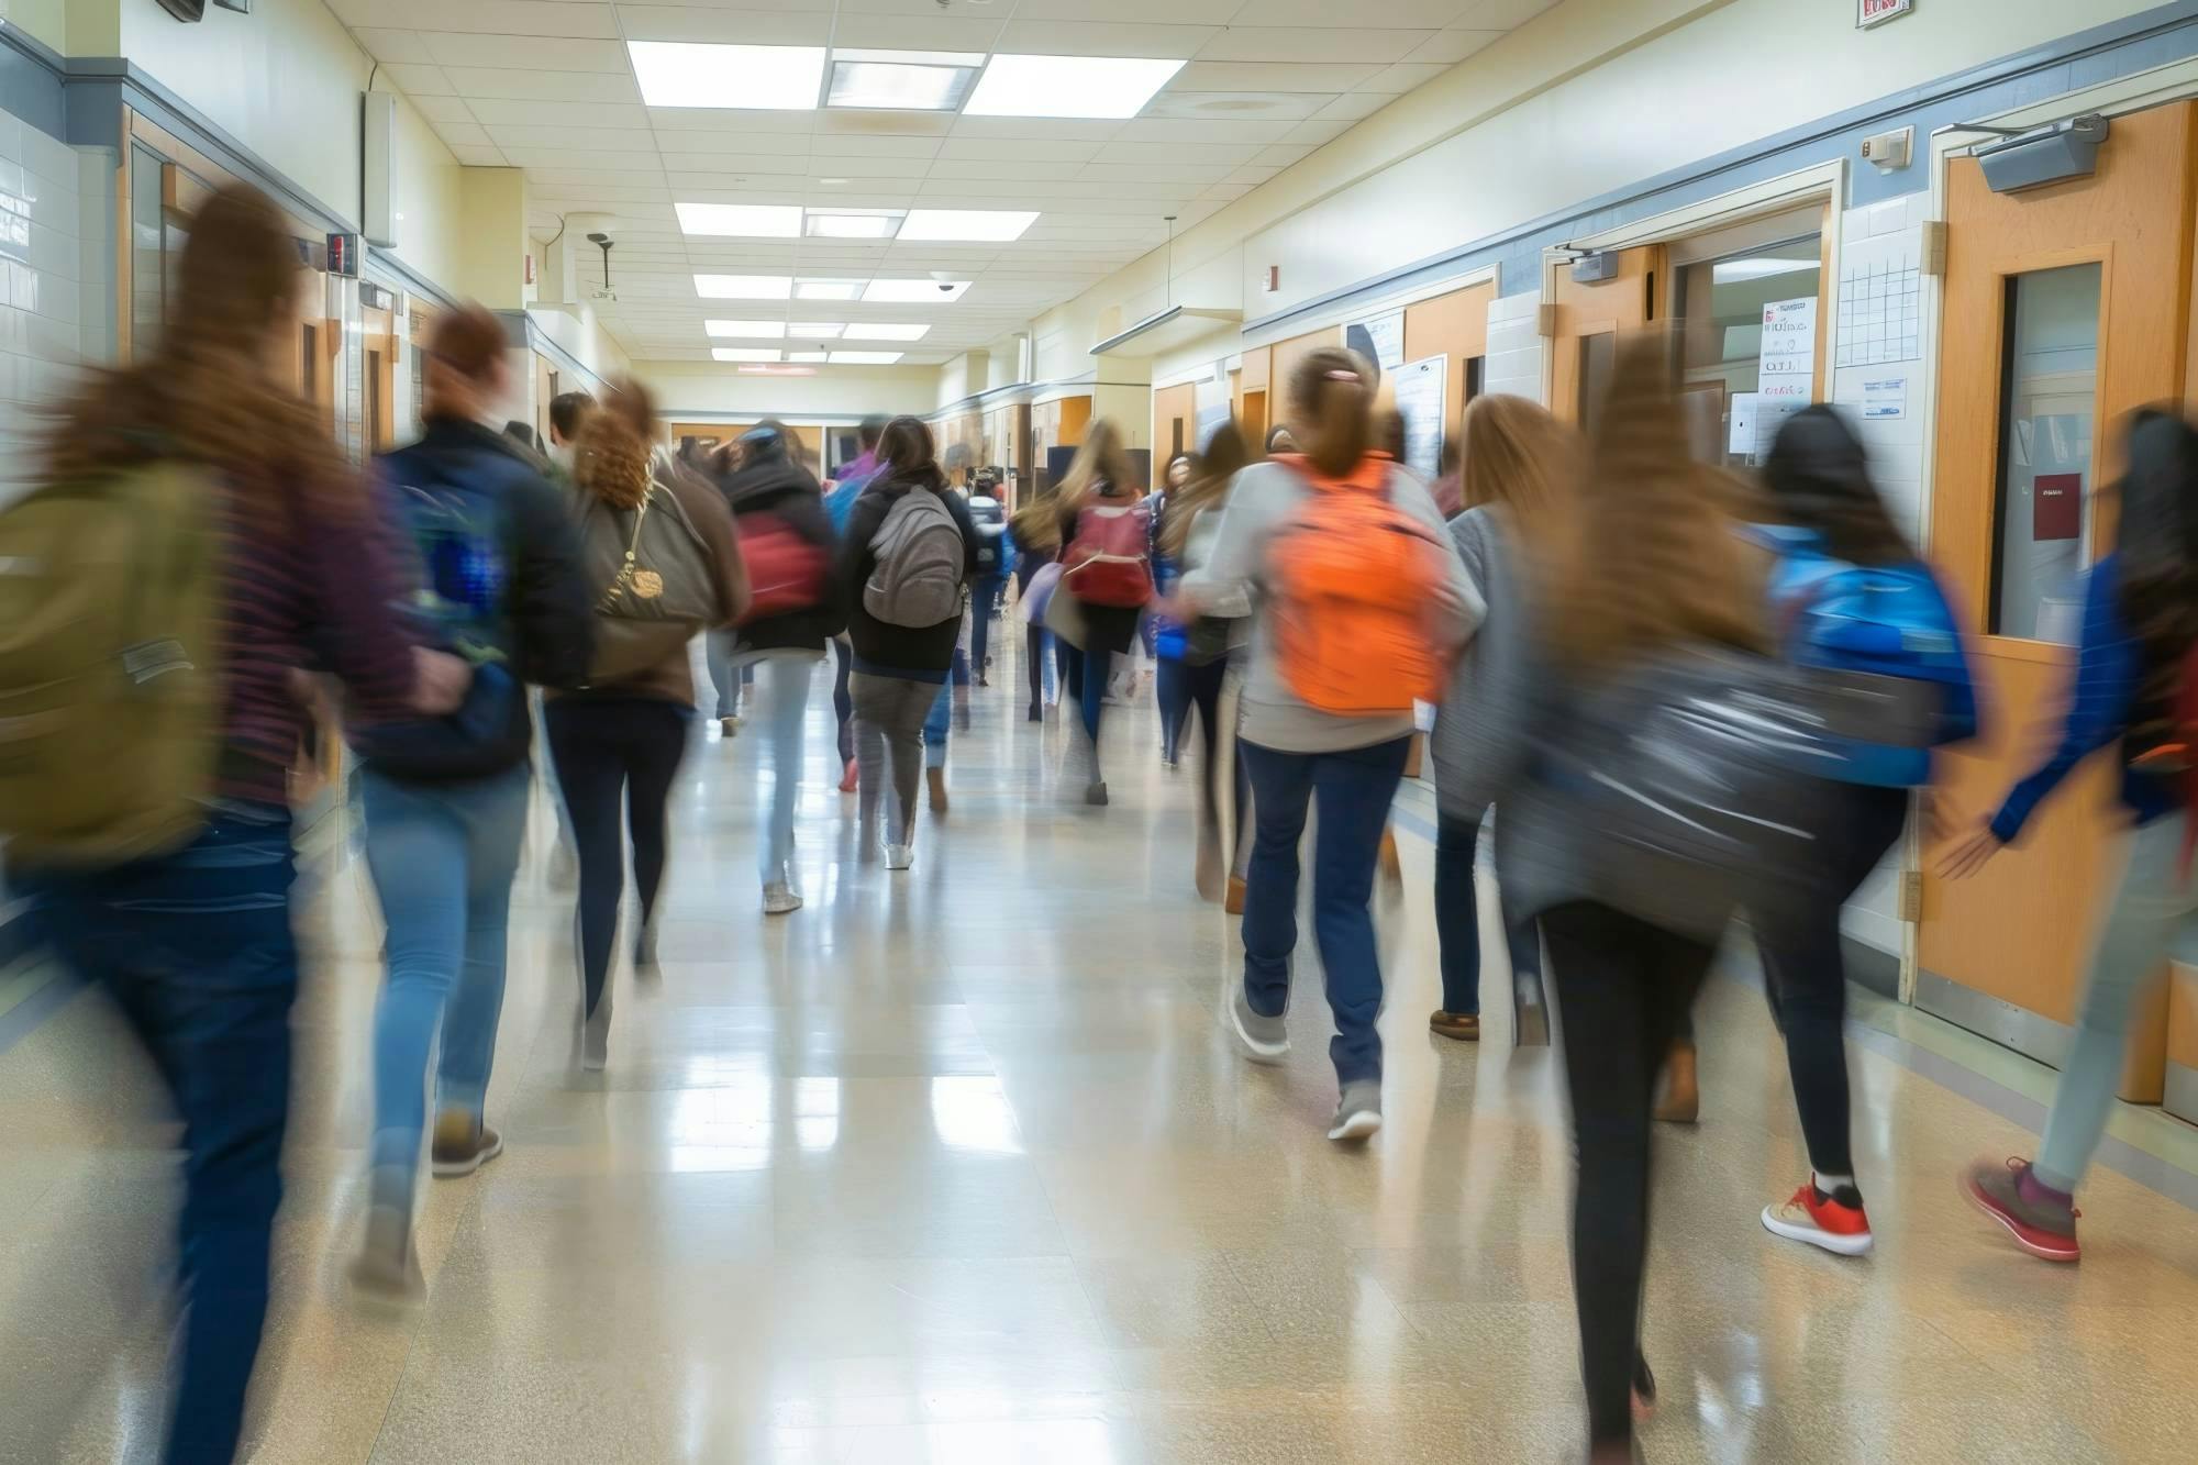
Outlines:
[[396, 609], [404, 550], [290, 381], [303, 284], [277, 207], [218, 189], [191, 220], [167, 328], [134, 365], [92, 372], [44, 440], [48, 486], [189, 473], [218, 557], [222, 752], [196, 836], [108, 869], [9, 862], [42, 897], [57, 957], [114, 996], [182, 1120], [165, 1447], [178, 1465], [237, 1454], [268, 1311], [299, 966], [288, 779], [312, 732], [292, 673], [332, 671], [356, 719], [440, 715], [468, 684], [464, 662], [415, 647]]

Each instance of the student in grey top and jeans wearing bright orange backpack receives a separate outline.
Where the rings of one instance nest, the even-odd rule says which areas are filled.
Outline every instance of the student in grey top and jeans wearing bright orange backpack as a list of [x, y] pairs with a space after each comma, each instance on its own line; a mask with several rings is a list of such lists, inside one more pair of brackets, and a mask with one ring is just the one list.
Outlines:
[[1374, 867], [1405, 776], [1418, 697], [1433, 697], [1481, 598], [1435, 502], [1372, 451], [1372, 383], [1345, 350], [1290, 376], [1301, 458], [1237, 475], [1211, 557], [1185, 579], [1185, 612], [1248, 596], [1255, 627], [1240, 757], [1257, 831], [1244, 904], [1244, 981], [1229, 1012], [1259, 1062], [1290, 1049], [1299, 840], [1319, 803], [1312, 919], [1336, 1038], [1330, 1139], [1380, 1128], [1380, 959]]

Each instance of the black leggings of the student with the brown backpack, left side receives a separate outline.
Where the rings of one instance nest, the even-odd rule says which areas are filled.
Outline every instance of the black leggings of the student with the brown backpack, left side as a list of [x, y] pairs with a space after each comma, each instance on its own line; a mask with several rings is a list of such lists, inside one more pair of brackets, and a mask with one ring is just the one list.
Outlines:
[[633, 838], [633, 882], [642, 924], [664, 884], [664, 805], [670, 801], [692, 708], [655, 700], [558, 697], [550, 702], [550, 757], [556, 759], [571, 838], [580, 851], [580, 979], [587, 1012], [602, 1001], [626, 893], [626, 851], [618, 838], [624, 796]]

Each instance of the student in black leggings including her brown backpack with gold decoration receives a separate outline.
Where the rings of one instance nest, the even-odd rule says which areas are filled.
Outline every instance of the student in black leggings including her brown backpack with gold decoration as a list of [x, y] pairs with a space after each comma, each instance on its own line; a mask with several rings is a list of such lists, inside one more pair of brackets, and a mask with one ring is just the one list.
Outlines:
[[[651, 453], [659, 433], [655, 403], [640, 383], [618, 394], [580, 429], [571, 517], [600, 581], [596, 601], [602, 651], [587, 684], [550, 697], [550, 752], [580, 847], [580, 902], [574, 935], [580, 957], [580, 1067], [602, 1069], [611, 1051], [611, 950], [626, 893], [626, 840], [642, 928], [637, 970], [657, 963], [657, 895], [664, 889], [670, 801], [695, 717], [688, 642], [739, 620], [750, 605], [747, 568], [725, 499], [677, 462]], [[622, 616], [629, 579], [653, 576], [648, 601], [688, 607], [681, 616]], [[624, 825], [624, 831], [620, 831]]]

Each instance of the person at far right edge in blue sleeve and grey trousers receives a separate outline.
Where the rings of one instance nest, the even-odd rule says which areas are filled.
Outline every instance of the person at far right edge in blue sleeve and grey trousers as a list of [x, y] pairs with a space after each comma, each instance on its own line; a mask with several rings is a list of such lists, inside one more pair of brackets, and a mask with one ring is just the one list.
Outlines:
[[2022, 836], [2038, 805], [2088, 754], [2119, 743], [2121, 880], [2090, 952], [2075, 1043], [2062, 1065], [2038, 1159], [1985, 1159], [1963, 1190], [2018, 1247], [2077, 1260], [2075, 1190], [2106, 1133], [2136, 1001], [2198, 917], [2189, 871], [2189, 820], [2178, 787], [2189, 761], [2178, 724], [2191, 651], [2198, 649], [2198, 429], [2169, 411], [2139, 411], [2128, 433], [2114, 552], [2090, 568], [2062, 737], [2016, 783], [1989, 823], [1941, 860], [1972, 875]]

